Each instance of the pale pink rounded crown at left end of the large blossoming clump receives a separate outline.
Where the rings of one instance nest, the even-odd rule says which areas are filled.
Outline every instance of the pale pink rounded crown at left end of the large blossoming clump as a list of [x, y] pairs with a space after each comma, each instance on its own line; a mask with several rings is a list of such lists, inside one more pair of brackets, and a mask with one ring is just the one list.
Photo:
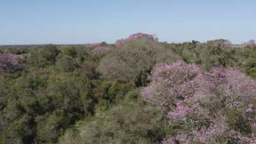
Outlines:
[[141, 95], [147, 102], [158, 106], [175, 105], [180, 102], [179, 98], [194, 95], [198, 84], [192, 80], [200, 73], [200, 68], [186, 65], [184, 61], [177, 61], [172, 65], [157, 65], [150, 77], [152, 82], [141, 90]]

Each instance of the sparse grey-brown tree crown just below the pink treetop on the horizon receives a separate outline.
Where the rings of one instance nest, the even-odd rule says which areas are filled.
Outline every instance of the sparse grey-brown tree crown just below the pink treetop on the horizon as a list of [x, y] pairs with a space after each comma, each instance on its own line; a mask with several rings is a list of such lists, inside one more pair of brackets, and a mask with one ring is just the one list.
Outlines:
[[148, 40], [127, 42], [121, 48], [109, 52], [99, 63], [98, 70], [103, 77], [131, 81], [136, 74], [150, 70], [156, 63], [172, 63], [179, 60], [171, 49]]

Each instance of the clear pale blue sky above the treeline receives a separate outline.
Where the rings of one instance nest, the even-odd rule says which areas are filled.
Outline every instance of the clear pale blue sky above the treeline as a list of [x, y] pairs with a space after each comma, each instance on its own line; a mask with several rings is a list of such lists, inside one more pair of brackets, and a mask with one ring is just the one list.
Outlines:
[[255, 0], [0, 0], [0, 45], [256, 39]]

